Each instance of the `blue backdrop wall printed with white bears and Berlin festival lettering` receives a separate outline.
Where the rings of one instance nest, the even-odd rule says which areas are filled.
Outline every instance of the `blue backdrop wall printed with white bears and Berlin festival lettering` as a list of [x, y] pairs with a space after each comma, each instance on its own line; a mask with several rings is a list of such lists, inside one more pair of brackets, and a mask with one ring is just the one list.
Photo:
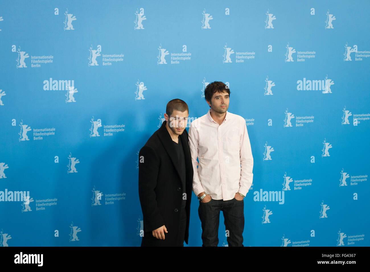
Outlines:
[[[140, 246], [139, 150], [230, 89], [244, 246], [369, 246], [368, 1], [3, 1], [0, 245]], [[171, 167], [171, 165], [168, 165]], [[189, 244], [202, 245], [192, 194]], [[168, 230], [171, 231], [171, 230]], [[228, 246], [220, 216], [219, 246]]]

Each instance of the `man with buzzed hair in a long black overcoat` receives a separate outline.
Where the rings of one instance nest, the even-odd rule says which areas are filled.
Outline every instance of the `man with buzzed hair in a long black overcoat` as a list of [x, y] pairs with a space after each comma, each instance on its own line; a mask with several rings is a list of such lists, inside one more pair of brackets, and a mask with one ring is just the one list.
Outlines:
[[189, 108], [168, 102], [165, 121], [139, 152], [139, 199], [144, 221], [141, 246], [188, 244], [193, 167], [189, 148]]

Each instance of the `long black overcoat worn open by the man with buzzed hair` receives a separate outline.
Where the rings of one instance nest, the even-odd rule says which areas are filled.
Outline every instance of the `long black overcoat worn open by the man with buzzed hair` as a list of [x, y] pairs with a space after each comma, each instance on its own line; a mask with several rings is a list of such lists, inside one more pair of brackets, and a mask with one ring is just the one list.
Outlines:
[[[185, 242], [188, 244], [193, 166], [186, 129], [179, 135], [185, 155], [186, 217]], [[166, 121], [154, 132], [139, 152], [139, 199], [144, 221], [141, 246], [176, 246], [183, 188], [179, 162]], [[165, 239], [153, 237], [152, 231], [165, 225]]]

